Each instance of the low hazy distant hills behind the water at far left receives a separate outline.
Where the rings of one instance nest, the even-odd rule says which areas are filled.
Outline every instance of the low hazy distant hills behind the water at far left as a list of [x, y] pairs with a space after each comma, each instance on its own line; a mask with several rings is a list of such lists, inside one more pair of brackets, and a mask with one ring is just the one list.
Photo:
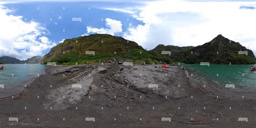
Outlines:
[[2, 62], [3, 64], [39, 64], [41, 60], [41, 56], [34, 56], [27, 60], [19, 60], [17, 58], [9, 56], [0, 57], [0, 62]]

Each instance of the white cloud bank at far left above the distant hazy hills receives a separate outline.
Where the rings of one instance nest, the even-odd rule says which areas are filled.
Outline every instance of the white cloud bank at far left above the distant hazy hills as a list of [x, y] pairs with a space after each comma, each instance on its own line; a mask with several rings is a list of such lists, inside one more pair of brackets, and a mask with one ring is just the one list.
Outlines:
[[48, 31], [39, 23], [22, 21], [22, 16], [11, 15], [12, 10], [0, 5], [0, 56], [27, 59], [42, 55], [42, 51], [52, 48]]

